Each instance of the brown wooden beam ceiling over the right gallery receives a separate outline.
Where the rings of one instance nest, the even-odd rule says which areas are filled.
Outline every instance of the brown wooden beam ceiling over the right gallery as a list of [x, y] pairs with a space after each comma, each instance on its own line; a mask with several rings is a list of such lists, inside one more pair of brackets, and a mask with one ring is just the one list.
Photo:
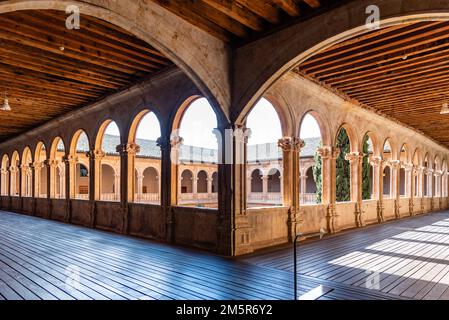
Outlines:
[[420, 22], [349, 39], [296, 71], [449, 147], [448, 58], [449, 23]]

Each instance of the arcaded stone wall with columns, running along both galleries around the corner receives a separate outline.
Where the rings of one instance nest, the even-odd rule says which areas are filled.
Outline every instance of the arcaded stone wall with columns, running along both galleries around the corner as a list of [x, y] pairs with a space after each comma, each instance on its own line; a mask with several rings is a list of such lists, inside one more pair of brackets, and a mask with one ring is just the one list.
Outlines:
[[[175, 98], [174, 85], [185, 88]], [[240, 255], [288, 242], [295, 231], [337, 233], [448, 207], [443, 147], [298, 74], [266, 94], [279, 115], [277, 142], [249, 145], [251, 128], [234, 131], [233, 152], [246, 157], [243, 165], [221, 164], [226, 148], [184, 143], [182, 114], [207, 101], [181, 71], [169, 70], [143, 86], [144, 95], [118, 93], [61, 119], [64, 125], [49, 123], [3, 144], [1, 209]], [[130, 112], [114, 111], [124, 104]], [[167, 109], [177, 110], [173, 118], [164, 116]], [[150, 114], [160, 137], [136, 138]], [[287, 121], [285, 114], [294, 116]], [[320, 139], [301, 139], [306, 115], [316, 120]], [[119, 135], [106, 130], [111, 123]], [[226, 134], [216, 123], [211, 128], [216, 141]], [[342, 133], [347, 148], [340, 145]], [[350, 173], [347, 197], [336, 186], [340, 165]], [[220, 183], [220, 172], [229, 167], [246, 176], [234, 190], [244, 219], [236, 225], [242, 236], [233, 252], [221, 242], [222, 233], [231, 232], [223, 217], [230, 194]]]

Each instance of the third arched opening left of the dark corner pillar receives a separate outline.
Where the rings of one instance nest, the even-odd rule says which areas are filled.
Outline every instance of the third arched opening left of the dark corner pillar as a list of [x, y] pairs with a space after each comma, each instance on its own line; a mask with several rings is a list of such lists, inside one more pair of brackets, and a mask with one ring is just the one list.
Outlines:
[[97, 186], [100, 187], [100, 200], [120, 201], [120, 154], [117, 152], [117, 146], [121, 144], [121, 139], [120, 130], [114, 121], [103, 123], [96, 143], [96, 149], [100, 146], [102, 152], [95, 160], [100, 168], [100, 183]]

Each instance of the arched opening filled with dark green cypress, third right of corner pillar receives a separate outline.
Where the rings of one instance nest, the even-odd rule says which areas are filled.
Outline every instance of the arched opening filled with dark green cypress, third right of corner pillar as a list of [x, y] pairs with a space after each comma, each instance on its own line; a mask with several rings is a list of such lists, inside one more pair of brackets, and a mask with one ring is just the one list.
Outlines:
[[336, 161], [336, 201], [351, 201], [351, 166], [346, 155], [351, 152], [351, 142], [345, 128], [341, 128], [336, 141], [340, 154]]

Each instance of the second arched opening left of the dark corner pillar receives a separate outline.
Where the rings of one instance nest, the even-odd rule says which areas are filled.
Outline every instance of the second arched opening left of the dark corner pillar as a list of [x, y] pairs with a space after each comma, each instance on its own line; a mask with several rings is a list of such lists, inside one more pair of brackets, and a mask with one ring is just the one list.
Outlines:
[[160, 137], [161, 128], [154, 112], [144, 110], [139, 113], [131, 126], [128, 142], [135, 144], [138, 151], [134, 159], [134, 183], [130, 179], [132, 176], [128, 178], [128, 186], [134, 185], [134, 200], [130, 201], [160, 204], [161, 149], [157, 144]]

